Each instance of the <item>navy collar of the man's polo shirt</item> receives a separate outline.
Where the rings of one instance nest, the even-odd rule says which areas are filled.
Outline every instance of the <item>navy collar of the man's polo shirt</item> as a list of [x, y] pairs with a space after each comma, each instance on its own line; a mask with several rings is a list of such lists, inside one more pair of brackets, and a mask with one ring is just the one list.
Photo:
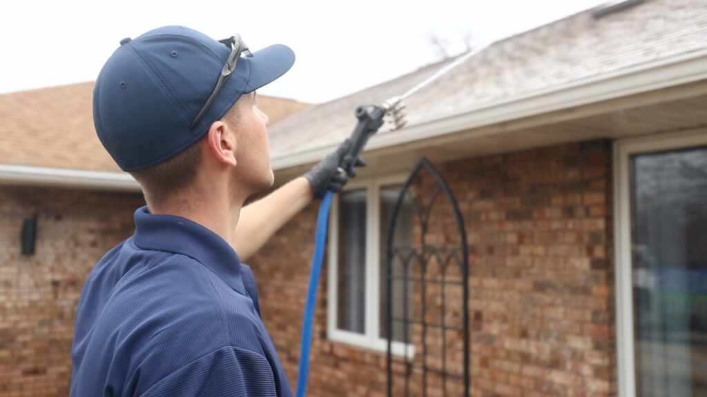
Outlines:
[[240, 258], [233, 247], [204, 226], [175, 215], [155, 215], [147, 206], [135, 211], [135, 244], [142, 249], [174, 252], [202, 263], [245, 295], [240, 276]]

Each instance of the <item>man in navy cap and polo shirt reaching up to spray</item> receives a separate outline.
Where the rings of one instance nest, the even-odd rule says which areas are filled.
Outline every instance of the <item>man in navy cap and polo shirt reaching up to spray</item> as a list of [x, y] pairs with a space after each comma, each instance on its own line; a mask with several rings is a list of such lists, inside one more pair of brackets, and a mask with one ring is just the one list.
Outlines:
[[170, 26], [122, 40], [103, 66], [96, 131], [147, 206], [83, 288], [71, 396], [291, 396], [240, 259], [341, 189], [349, 147], [244, 206], [274, 182], [255, 90], [293, 62], [283, 45], [251, 54], [238, 36]]

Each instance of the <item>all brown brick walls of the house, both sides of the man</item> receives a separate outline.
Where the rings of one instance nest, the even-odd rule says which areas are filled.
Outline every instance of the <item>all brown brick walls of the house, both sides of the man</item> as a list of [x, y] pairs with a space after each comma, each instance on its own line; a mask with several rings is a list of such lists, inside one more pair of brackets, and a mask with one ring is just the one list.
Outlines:
[[[436, 165], [466, 223], [473, 396], [616, 394], [610, 161], [595, 141]], [[132, 234], [142, 203], [0, 186], [0, 395], [68, 395], [83, 282]], [[293, 387], [317, 208], [250, 261]], [[23, 256], [22, 221], [35, 214], [36, 254]], [[325, 268], [308, 396], [385, 396], [385, 354], [327, 340], [326, 280]]]

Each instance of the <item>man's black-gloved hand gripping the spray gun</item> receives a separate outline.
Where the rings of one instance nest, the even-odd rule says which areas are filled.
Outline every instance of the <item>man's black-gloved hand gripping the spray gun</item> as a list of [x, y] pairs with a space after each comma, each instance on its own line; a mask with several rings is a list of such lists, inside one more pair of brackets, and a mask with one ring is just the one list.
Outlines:
[[[346, 172], [343, 170], [339, 171], [339, 165], [341, 165], [341, 160], [350, 149], [351, 140], [346, 139], [337, 150], [329, 153], [319, 164], [315, 165], [309, 172], [304, 174], [304, 177], [309, 179], [310, 184], [312, 184], [314, 198], [319, 199], [324, 197], [329, 190], [339, 191], [344, 187], [346, 182], [348, 182]], [[365, 165], [366, 162], [360, 158], [357, 158], [354, 163], [355, 167], [363, 167]], [[356, 170], [352, 170], [348, 176], [355, 177]]]

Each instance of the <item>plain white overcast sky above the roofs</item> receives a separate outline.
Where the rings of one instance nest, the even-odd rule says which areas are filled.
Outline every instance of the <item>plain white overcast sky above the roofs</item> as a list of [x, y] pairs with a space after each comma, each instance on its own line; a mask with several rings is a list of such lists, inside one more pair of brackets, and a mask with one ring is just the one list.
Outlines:
[[429, 37], [464, 50], [607, 0], [4, 0], [0, 93], [93, 81], [123, 37], [185, 25], [251, 49], [281, 42], [297, 60], [263, 95], [326, 102], [438, 61]]

